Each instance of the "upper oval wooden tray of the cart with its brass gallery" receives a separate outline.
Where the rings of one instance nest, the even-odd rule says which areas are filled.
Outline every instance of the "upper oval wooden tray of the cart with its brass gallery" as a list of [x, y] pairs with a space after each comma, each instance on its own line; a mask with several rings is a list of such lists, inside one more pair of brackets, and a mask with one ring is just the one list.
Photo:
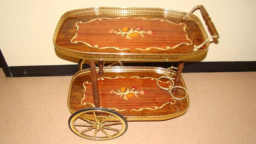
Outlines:
[[87, 60], [179, 61], [199, 57], [209, 42], [193, 14], [161, 8], [95, 7], [61, 17], [56, 51]]

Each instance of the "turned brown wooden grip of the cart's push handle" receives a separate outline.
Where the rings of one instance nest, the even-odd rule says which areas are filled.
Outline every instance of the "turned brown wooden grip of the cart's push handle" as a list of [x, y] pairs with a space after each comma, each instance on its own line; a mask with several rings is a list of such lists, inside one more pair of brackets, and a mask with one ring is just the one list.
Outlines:
[[214, 26], [214, 24], [213, 24], [211, 18], [209, 17], [208, 12], [207, 12], [206, 9], [204, 8], [204, 6], [203, 6], [203, 5], [200, 5], [199, 8], [200, 8], [200, 11], [201, 11], [202, 16], [203, 16], [204, 19], [205, 19], [206, 25], [208, 24], [208, 27], [210, 27], [210, 29], [212, 30], [212, 32], [213, 32], [215, 38], [216, 38], [216, 39], [220, 38], [220, 36], [219, 36], [219, 34], [218, 34], [218, 32], [217, 32], [217, 30], [216, 30], [216, 28], [215, 28], [215, 26]]

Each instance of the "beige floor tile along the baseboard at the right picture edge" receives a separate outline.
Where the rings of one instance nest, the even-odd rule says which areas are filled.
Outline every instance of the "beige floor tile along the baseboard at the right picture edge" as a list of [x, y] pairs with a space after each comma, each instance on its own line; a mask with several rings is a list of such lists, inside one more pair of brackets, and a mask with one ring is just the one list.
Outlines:
[[256, 76], [252, 72], [223, 72], [218, 75], [223, 90], [255, 89]]

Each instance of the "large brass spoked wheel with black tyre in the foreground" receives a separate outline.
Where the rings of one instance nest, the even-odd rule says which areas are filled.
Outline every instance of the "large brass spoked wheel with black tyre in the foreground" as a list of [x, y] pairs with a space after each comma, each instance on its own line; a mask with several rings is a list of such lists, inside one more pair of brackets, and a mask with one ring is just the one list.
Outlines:
[[123, 135], [127, 121], [119, 113], [105, 108], [87, 108], [73, 113], [68, 120], [70, 130], [91, 140], [110, 140]]

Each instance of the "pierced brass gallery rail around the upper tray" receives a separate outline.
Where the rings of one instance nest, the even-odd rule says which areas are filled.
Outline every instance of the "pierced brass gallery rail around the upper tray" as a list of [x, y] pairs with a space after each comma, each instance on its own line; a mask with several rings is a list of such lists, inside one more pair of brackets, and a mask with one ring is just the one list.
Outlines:
[[[84, 9], [76, 9], [72, 11], [68, 11], [64, 13], [54, 31], [53, 35], [53, 43], [56, 51], [58, 51], [61, 54], [76, 57], [79, 59], [87, 59], [87, 60], [104, 60], [104, 61], [116, 61], [116, 60], [123, 60], [123, 61], [154, 61], [154, 62], [160, 62], [160, 61], [182, 61], [187, 59], [193, 59], [196, 57], [199, 57], [207, 52], [209, 41], [206, 42], [206, 48], [202, 50], [198, 50], [196, 52], [189, 52], [189, 53], [183, 53], [183, 54], [129, 54], [129, 53], [93, 53], [93, 52], [81, 52], [81, 51], [75, 51], [75, 50], [69, 50], [63, 47], [58, 46], [56, 42], [56, 35], [59, 32], [59, 28], [64, 21], [65, 18], [71, 15], [75, 14], [81, 14], [84, 15], [99, 15], [99, 14], [105, 14], [105, 15], [119, 15], [119, 16], [126, 16], [126, 15], [140, 15], [140, 16], [154, 16], [154, 15], [162, 15], [162, 16], [168, 16], [168, 17], [175, 17], [182, 19], [183, 15], [186, 15], [188, 13], [176, 11], [172, 9], [163, 9], [163, 8], [121, 8], [121, 7], [91, 7], [91, 8], [84, 8]], [[193, 14], [189, 15], [188, 18], [193, 19], [197, 21], [201, 31], [204, 34], [204, 38], [207, 39], [208, 35], [199, 20], [199, 18]]]

